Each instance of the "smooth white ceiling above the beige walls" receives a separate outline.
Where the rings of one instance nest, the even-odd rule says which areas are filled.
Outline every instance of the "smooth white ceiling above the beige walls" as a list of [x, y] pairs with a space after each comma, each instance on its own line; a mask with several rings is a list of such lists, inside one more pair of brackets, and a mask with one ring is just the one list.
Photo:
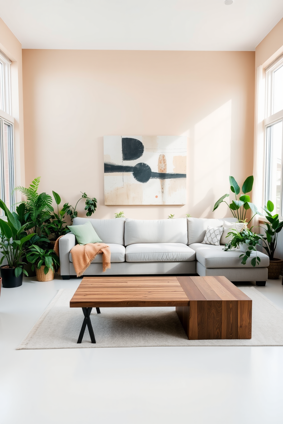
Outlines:
[[283, 0], [0, 0], [23, 48], [255, 50]]

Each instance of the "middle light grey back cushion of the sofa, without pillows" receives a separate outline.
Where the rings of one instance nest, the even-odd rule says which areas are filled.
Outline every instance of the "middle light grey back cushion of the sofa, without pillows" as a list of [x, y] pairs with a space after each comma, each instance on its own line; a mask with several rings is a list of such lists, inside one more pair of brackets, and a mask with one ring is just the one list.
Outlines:
[[188, 244], [186, 218], [140, 220], [125, 222], [125, 246], [134, 243]]

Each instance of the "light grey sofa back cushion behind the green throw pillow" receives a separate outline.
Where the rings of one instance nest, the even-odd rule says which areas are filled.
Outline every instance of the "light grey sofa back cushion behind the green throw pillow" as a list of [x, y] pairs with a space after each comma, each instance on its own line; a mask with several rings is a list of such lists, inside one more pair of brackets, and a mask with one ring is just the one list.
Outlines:
[[125, 218], [91, 219], [74, 218], [73, 225], [90, 222], [103, 243], [124, 244]]

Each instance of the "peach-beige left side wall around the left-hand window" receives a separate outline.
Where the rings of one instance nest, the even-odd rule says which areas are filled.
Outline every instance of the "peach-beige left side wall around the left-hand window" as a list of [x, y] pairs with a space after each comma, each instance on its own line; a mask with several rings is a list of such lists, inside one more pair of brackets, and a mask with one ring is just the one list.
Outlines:
[[[25, 181], [22, 105], [22, 45], [0, 18], [0, 50], [11, 60], [11, 106], [14, 117], [15, 182]], [[20, 200], [19, 193], [17, 200]]]

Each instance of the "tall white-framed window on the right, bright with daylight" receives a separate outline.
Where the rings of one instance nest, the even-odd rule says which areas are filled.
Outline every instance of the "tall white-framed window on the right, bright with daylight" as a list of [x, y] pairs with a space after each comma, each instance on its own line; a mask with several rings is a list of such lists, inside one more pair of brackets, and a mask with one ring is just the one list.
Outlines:
[[283, 56], [274, 61], [266, 72], [265, 137], [266, 190], [265, 204], [271, 200], [276, 213], [283, 216]]

